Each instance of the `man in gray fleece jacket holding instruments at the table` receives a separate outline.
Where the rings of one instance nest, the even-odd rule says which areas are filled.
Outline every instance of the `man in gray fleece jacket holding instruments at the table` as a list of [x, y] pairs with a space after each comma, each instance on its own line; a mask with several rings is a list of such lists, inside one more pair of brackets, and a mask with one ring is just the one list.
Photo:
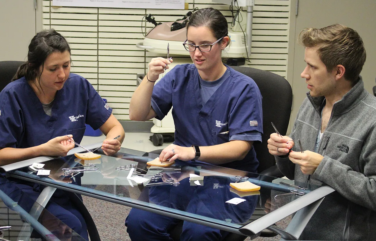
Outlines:
[[[290, 136], [270, 135], [269, 152], [298, 185], [329, 185], [300, 239], [376, 240], [376, 98], [359, 76], [358, 33], [335, 24], [300, 33], [307, 98]], [[291, 140], [292, 139], [292, 140]], [[302, 149], [295, 142], [300, 139]], [[290, 151], [291, 150], [291, 151]]]

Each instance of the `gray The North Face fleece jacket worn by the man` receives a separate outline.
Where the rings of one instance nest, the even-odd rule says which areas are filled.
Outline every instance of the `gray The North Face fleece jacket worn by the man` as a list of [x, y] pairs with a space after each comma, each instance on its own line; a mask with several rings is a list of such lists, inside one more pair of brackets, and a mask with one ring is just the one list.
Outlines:
[[[297, 114], [291, 138], [314, 151], [324, 97], [307, 98]], [[300, 151], [299, 145], [293, 147]], [[278, 168], [299, 185], [329, 185], [300, 239], [376, 240], [376, 98], [358, 83], [333, 106], [318, 153], [324, 159], [311, 179], [288, 158], [276, 156]]]

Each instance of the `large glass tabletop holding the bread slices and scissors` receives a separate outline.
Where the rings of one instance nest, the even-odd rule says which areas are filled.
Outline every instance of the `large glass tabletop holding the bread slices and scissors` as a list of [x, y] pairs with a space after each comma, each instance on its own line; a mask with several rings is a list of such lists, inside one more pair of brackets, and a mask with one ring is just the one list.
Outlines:
[[[96, 153], [101, 157], [90, 161], [74, 155], [44, 161], [43, 168], [50, 170], [49, 176], [37, 176], [37, 171], [30, 167], [17, 168], [8, 174], [224, 230], [239, 229], [265, 214], [271, 215], [319, 188], [198, 161], [177, 160], [168, 168], [150, 167], [146, 162], [158, 155], [125, 148], [115, 156], [106, 156], [102, 150]], [[76, 172], [77, 169], [85, 171]], [[249, 181], [261, 188], [252, 192], [238, 191], [230, 187], [230, 183], [237, 181]], [[152, 183], [163, 185], [150, 185]], [[227, 202], [234, 198], [242, 202]]]

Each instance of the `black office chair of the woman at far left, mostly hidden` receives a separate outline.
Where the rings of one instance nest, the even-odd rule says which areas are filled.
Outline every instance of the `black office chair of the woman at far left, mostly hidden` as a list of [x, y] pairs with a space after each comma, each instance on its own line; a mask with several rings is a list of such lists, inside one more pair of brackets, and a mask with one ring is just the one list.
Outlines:
[[[2, 91], [2, 89], [11, 82], [13, 76], [18, 70], [18, 67], [20, 67], [20, 65], [23, 63], [23, 61], [0, 61], [0, 91]], [[82, 200], [75, 193], [67, 193], [72, 203], [80, 211], [86, 221], [90, 240], [100, 241], [100, 236], [94, 220], [92, 219]]]

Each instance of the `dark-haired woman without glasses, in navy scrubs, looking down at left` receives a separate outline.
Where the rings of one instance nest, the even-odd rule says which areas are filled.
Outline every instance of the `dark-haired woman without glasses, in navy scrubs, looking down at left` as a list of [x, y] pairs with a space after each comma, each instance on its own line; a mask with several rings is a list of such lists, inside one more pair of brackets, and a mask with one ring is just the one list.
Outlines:
[[[123, 127], [88, 80], [70, 73], [70, 55], [68, 42], [53, 29], [31, 40], [27, 61], [0, 92], [0, 165], [37, 156], [65, 156], [74, 147], [68, 140], [81, 142], [85, 123], [105, 133], [102, 150], [106, 155], [120, 150]], [[34, 199], [43, 188], [11, 181]], [[67, 195], [57, 196], [46, 209], [88, 239], [82, 215]]]

